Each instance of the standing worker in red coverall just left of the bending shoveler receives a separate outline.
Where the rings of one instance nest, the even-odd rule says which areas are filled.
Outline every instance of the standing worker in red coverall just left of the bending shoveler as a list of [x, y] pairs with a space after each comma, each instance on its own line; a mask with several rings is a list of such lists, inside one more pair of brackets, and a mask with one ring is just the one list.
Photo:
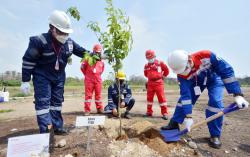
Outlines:
[[146, 51], [148, 63], [144, 66], [144, 75], [148, 78], [147, 87], [147, 113], [145, 117], [153, 115], [153, 101], [156, 93], [161, 107], [162, 119], [168, 119], [168, 108], [166, 97], [164, 95], [164, 78], [168, 76], [169, 70], [163, 61], [156, 59], [153, 50]]

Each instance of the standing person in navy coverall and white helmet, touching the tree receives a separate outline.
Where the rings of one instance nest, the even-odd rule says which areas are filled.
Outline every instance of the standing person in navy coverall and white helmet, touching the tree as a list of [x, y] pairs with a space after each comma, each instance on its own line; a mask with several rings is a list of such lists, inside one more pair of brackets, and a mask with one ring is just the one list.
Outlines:
[[86, 52], [69, 38], [72, 32], [67, 14], [55, 10], [49, 17], [49, 31], [30, 37], [28, 49], [23, 56], [21, 90], [29, 94], [32, 75], [40, 133], [49, 132], [52, 125], [56, 135], [67, 134], [61, 114], [65, 67], [72, 53], [83, 57]]

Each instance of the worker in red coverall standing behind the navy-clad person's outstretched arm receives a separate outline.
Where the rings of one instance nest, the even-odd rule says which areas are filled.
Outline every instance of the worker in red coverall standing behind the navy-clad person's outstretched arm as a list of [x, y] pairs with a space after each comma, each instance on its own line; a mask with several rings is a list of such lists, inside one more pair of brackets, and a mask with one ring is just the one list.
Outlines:
[[85, 102], [84, 102], [84, 112], [85, 115], [90, 114], [90, 105], [92, 100], [92, 94], [95, 92], [95, 104], [97, 113], [103, 113], [102, 105], [102, 78], [101, 75], [104, 71], [104, 63], [101, 60], [102, 46], [96, 44], [93, 47], [93, 55], [97, 55], [100, 59], [96, 61], [94, 65], [90, 65], [87, 60], [84, 60], [81, 65], [81, 71], [85, 76]]

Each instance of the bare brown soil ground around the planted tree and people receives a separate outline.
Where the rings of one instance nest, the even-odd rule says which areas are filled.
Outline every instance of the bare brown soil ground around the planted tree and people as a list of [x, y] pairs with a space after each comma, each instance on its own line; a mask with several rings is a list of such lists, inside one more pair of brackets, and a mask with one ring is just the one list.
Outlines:
[[[244, 94], [249, 99], [250, 88], [244, 88]], [[178, 90], [167, 90], [170, 117], [178, 99]], [[107, 102], [106, 95], [103, 95]], [[250, 111], [242, 110], [227, 115], [224, 119], [222, 133], [222, 148], [213, 149], [208, 146], [209, 137], [207, 126], [199, 127], [185, 135], [178, 143], [165, 143], [159, 134], [159, 128], [169, 121], [160, 118], [158, 103], [154, 104], [154, 117], [144, 118], [146, 112], [145, 93], [134, 94], [135, 107], [131, 111], [132, 119], [122, 119], [123, 138], [118, 137], [119, 119], [107, 118], [104, 126], [92, 129], [91, 149], [87, 147], [87, 128], [75, 128], [76, 116], [83, 115], [83, 99], [78, 96], [66, 96], [63, 104], [63, 117], [66, 128], [70, 130], [67, 136], [55, 136], [56, 142], [65, 139], [67, 144], [63, 148], [54, 148], [52, 157], [64, 157], [72, 154], [77, 157], [159, 157], [159, 156], [250, 156]], [[225, 93], [225, 106], [233, 99]], [[207, 93], [201, 96], [194, 107], [194, 121], [205, 118]], [[38, 133], [33, 98], [11, 100], [0, 104], [0, 110], [13, 109], [14, 111], [0, 114], [0, 157], [6, 156], [9, 137]], [[92, 105], [92, 115], [95, 115], [95, 106]], [[13, 130], [14, 129], [14, 130]], [[192, 149], [187, 141], [194, 141], [198, 148]]]

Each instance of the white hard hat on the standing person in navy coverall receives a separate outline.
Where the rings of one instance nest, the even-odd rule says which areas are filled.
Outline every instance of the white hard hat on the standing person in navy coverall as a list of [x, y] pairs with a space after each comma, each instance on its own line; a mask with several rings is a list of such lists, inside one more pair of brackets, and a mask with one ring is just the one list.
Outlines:
[[71, 21], [64, 11], [54, 10], [49, 17], [49, 24], [63, 33], [72, 33]]

